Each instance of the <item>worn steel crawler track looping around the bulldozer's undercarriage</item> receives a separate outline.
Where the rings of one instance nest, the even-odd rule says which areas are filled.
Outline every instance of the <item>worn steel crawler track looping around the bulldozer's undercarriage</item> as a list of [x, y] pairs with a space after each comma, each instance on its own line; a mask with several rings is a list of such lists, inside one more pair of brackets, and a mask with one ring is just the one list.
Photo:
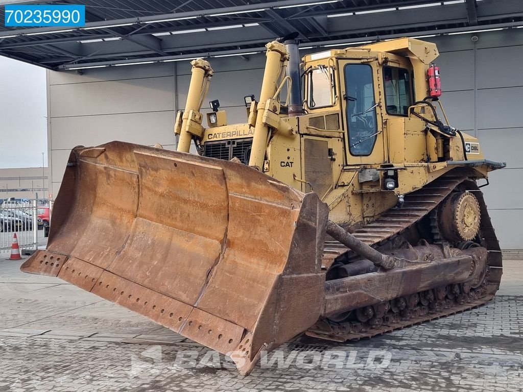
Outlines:
[[[375, 314], [373, 318], [365, 322], [334, 322], [328, 319], [321, 319], [305, 332], [306, 335], [334, 341], [371, 338], [429, 320], [464, 312], [490, 301], [499, 289], [499, 283], [501, 282], [503, 272], [502, 254], [490, 216], [488, 215], [483, 193], [477, 187], [475, 181], [466, 177], [441, 177], [424, 188], [406, 195], [405, 204], [401, 208], [391, 209], [378, 220], [361, 227], [353, 234], [371, 246], [380, 246], [427, 216], [458, 187], [473, 192], [480, 204], [480, 243], [481, 246], [488, 250], [488, 257], [487, 271], [479, 287], [469, 290], [467, 286], [460, 284], [458, 285], [459, 288], [456, 288], [458, 295], [452, 292], [452, 287], [450, 287], [452, 285], [436, 287], [430, 290], [435, 296], [434, 301], [425, 305], [420, 301], [415, 301], [416, 297], [413, 298], [413, 295], [411, 295], [406, 298], [407, 303], [408, 299], [414, 302], [411, 306], [407, 304], [403, 309], [386, 309], [382, 315]], [[394, 217], [398, 217], [397, 220]], [[338, 256], [342, 255], [345, 252], [350, 252], [350, 250], [342, 244], [336, 243], [336, 241], [327, 241], [325, 244], [325, 253], [329, 258], [336, 254]], [[419, 298], [423, 294], [426, 294], [426, 292], [417, 293], [414, 296]], [[395, 304], [396, 300], [397, 298], [376, 305], [390, 307], [390, 304]], [[353, 312], [356, 312], [356, 310]]]

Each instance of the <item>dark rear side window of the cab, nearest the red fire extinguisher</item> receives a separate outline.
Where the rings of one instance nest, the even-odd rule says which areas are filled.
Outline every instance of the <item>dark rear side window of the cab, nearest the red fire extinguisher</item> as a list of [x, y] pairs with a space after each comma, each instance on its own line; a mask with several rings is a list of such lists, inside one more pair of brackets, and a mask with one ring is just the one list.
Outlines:
[[407, 116], [412, 106], [412, 82], [408, 70], [397, 67], [383, 67], [385, 106], [387, 114]]

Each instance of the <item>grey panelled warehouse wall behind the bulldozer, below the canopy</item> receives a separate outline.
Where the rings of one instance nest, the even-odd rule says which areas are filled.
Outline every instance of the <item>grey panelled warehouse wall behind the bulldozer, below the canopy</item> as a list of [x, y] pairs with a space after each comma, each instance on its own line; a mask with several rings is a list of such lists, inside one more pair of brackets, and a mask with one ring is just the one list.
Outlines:
[[[504, 249], [521, 249], [523, 235], [523, 29], [427, 38], [438, 44], [451, 123], [476, 134], [488, 159], [507, 162], [483, 188]], [[245, 121], [245, 95], [259, 95], [263, 54], [212, 59], [208, 100], [220, 99], [229, 122]], [[48, 72], [52, 193], [58, 193], [67, 156], [76, 145], [111, 140], [174, 149], [173, 125], [190, 78], [185, 62]], [[207, 112], [209, 109], [205, 109]]]

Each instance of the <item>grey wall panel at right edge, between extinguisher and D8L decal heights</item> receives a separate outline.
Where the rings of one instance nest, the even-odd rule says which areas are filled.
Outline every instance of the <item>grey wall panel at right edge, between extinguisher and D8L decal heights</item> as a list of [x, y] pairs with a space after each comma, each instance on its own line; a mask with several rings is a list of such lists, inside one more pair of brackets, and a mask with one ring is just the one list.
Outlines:
[[517, 128], [521, 115], [523, 87], [491, 88], [477, 91], [477, 128]]

